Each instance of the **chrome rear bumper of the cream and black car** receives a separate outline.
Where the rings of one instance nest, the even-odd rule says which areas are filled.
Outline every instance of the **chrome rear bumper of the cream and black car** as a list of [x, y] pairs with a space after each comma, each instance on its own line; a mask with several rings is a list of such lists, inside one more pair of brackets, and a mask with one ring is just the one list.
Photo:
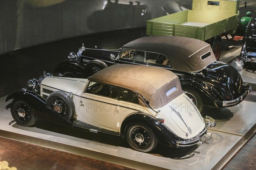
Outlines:
[[[179, 147], [184, 147], [184, 146], [192, 146], [194, 144], [199, 143], [201, 137], [206, 133], [208, 128], [213, 128], [216, 125], [215, 120], [212, 119], [210, 116], [205, 116], [205, 120], [206, 120], [206, 127], [201, 133], [199, 133], [197, 136], [195, 136], [191, 139], [186, 139], [184, 141], [176, 141], [176, 145]], [[201, 143], [199, 143], [199, 144], [201, 144]]]

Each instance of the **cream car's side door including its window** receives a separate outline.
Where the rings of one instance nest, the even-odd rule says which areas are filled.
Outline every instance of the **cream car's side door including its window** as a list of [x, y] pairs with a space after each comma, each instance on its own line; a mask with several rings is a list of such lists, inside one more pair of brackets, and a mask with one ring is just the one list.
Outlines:
[[81, 120], [96, 127], [118, 131], [117, 99], [116, 86], [89, 82], [80, 99]]

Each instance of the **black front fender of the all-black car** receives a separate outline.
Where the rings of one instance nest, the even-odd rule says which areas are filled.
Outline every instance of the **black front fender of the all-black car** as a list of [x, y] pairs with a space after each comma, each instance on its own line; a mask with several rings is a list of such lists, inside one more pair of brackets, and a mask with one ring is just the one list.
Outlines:
[[73, 74], [76, 75], [76, 78], [86, 78], [86, 77], [89, 77], [90, 75], [88, 75], [85, 71], [85, 65], [78, 62], [78, 61], [68, 61], [68, 60], [65, 60], [65, 61], [62, 61], [60, 62], [54, 72], [55, 73], [61, 73], [61, 72], [72, 72]]

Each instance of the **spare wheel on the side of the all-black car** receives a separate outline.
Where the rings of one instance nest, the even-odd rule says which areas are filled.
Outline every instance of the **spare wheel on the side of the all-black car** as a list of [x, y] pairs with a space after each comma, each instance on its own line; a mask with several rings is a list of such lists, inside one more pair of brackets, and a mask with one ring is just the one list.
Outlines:
[[88, 62], [85, 69], [87, 70], [87, 73], [89, 74], [89, 76], [91, 76], [106, 67], [108, 67], [108, 65], [106, 65], [105, 62], [99, 59], [95, 59]]

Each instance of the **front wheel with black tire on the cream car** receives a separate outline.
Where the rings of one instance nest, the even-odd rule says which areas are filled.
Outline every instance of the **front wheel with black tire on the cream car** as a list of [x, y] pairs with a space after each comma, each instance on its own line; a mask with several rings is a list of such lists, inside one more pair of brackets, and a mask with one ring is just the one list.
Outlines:
[[18, 125], [29, 127], [34, 125], [38, 120], [32, 106], [20, 99], [15, 99], [12, 102], [11, 113]]

